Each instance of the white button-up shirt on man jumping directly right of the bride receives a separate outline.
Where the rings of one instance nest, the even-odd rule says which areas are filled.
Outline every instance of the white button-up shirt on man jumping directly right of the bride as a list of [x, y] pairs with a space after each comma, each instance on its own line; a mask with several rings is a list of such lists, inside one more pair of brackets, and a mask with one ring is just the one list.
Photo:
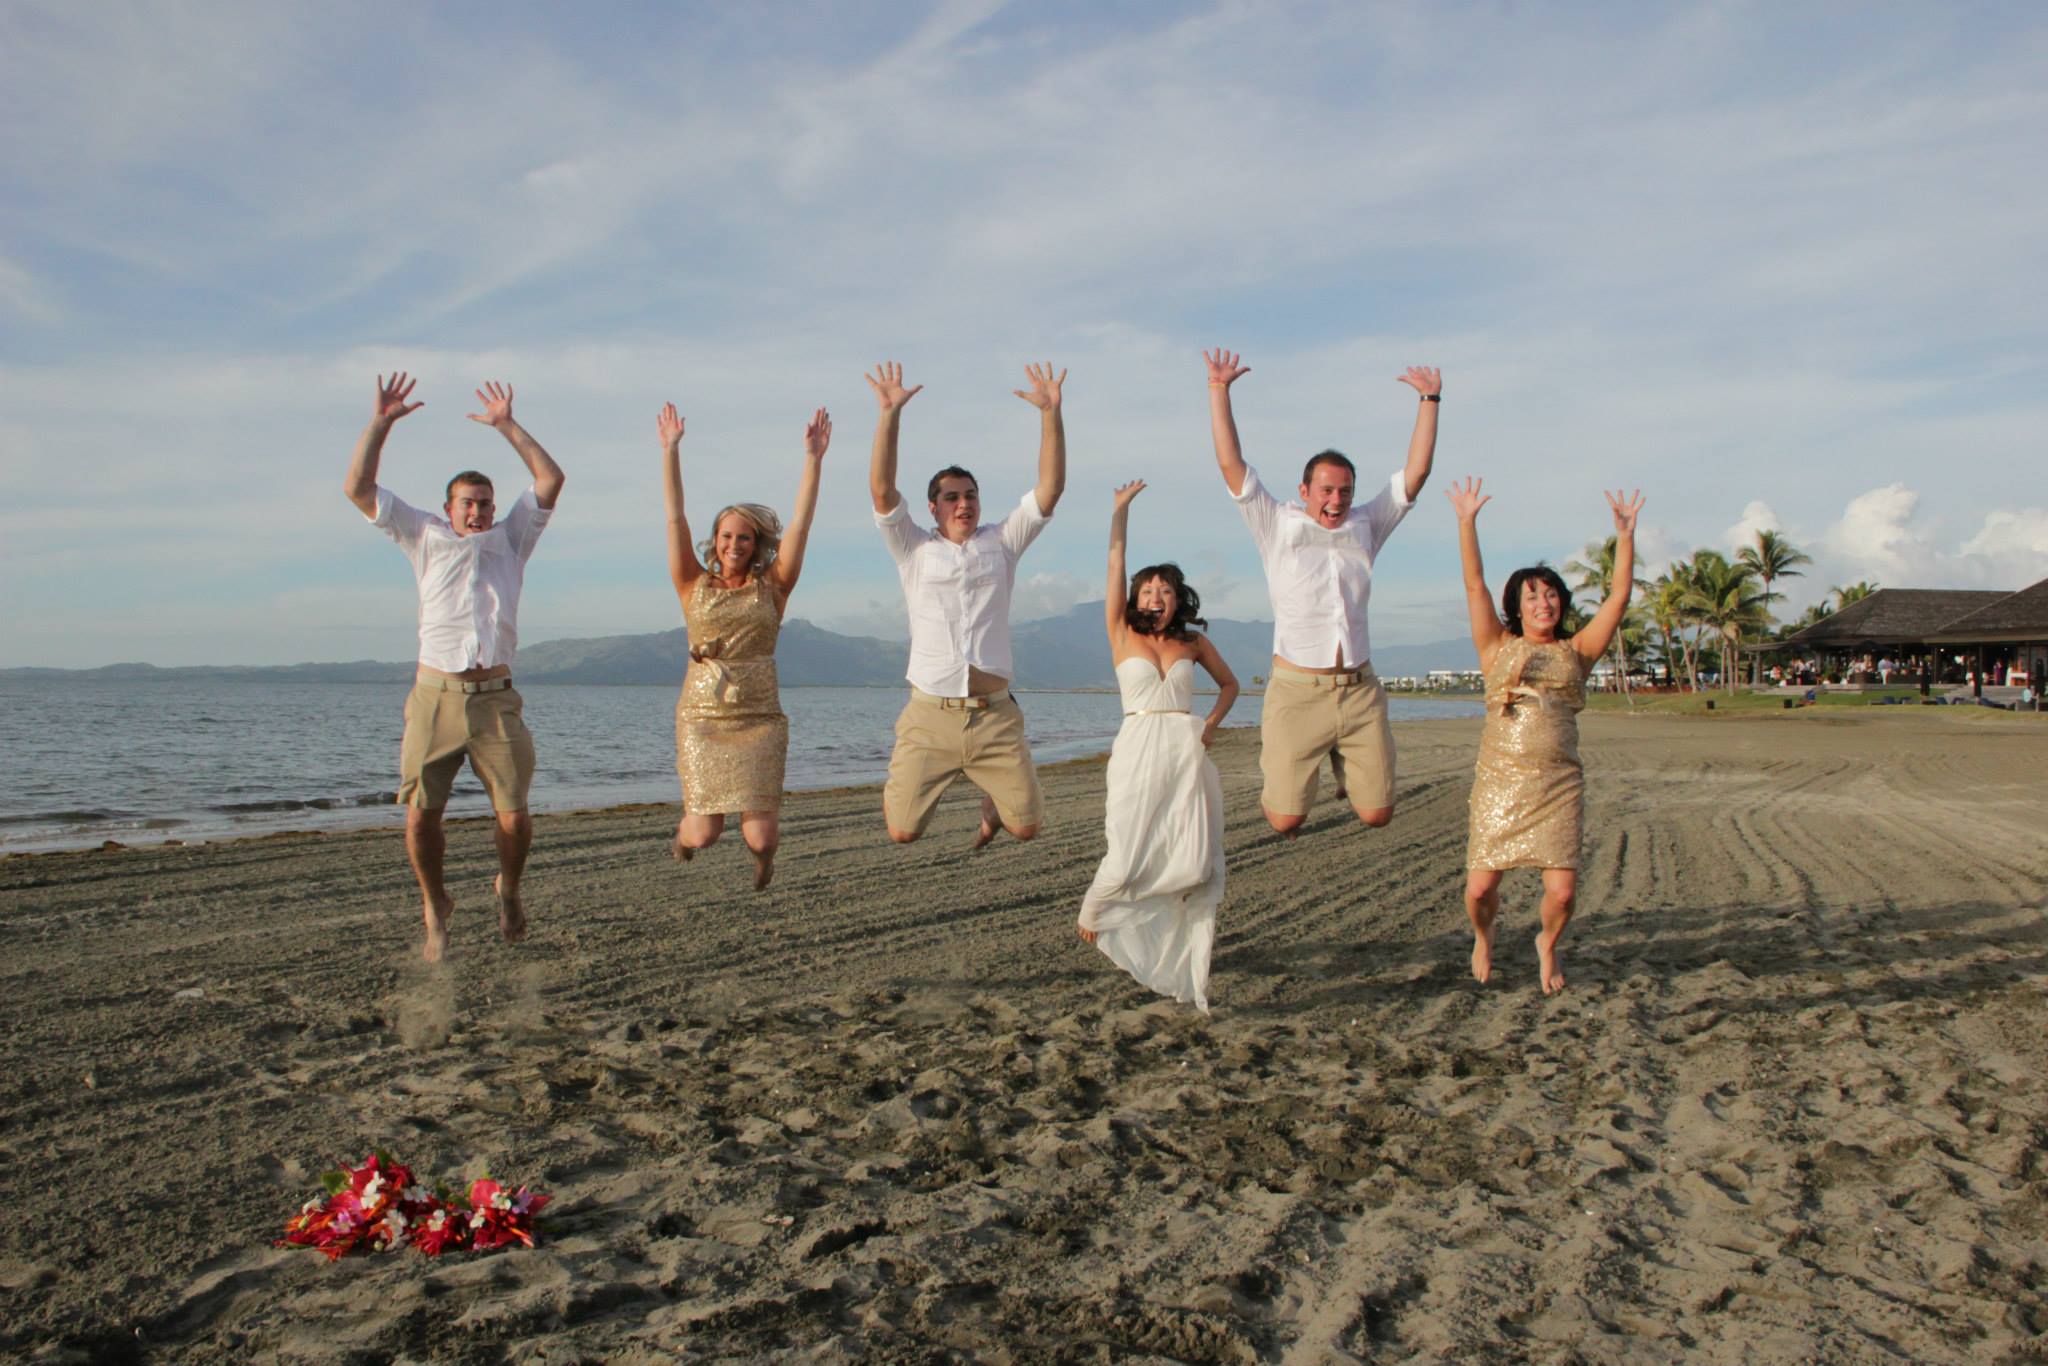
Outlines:
[[1274, 653], [1288, 664], [1327, 670], [1372, 661], [1366, 600], [1372, 596], [1372, 557], [1401, 524], [1415, 500], [1407, 471], [1397, 469], [1372, 502], [1352, 504], [1343, 526], [1329, 530], [1300, 504], [1276, 502], [1245, 467], [1237, 510], [1260, 547], [1266, 592], [1274, 600]]

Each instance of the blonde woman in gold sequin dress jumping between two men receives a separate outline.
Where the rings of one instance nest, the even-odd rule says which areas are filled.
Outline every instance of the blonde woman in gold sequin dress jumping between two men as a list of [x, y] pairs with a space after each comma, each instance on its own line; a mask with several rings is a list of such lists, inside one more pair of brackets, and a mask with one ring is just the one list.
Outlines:
[[774, 879], [774, 852], [782, 842], [782, 766], [788, 760], [774, 643], [803, 573], [831, 414], [819, 408], [803, 428], [803, 473], [786, 530], [772, 508], [731, 504], [711, 518], [711, 539], [696, 547], [682, 508], [682, 414], [674, 403], [662, 410], [655, 434], [668, 502], [668, 578], [690, 629], [690, 670], [676, 698], [682, 819], [670, 848], [688, 862], [719, 840], [727, 815], [737, 815], [739, 838], [754, 852], [754, 889], [762, 891]]

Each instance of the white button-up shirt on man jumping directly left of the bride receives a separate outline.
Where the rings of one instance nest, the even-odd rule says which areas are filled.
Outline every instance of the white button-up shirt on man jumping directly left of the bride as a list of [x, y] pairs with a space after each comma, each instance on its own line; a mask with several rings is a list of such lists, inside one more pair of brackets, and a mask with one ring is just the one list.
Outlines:
[[967, 696], [967, 670], [1010, 678], [1010, 586], [1018, 555], [1053, 520], [1030, 489], [1001, 522], [983, 522], [963, 545], [909, 520], [909, 500], [877, 512], [909, 608], [911, 686], [932, 696]]

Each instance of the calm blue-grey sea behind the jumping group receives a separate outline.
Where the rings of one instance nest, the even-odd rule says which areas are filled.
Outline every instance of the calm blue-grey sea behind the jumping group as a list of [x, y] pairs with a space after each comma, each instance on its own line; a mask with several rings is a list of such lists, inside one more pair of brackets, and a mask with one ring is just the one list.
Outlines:
[[[676, 801], [676, 690], [520, 686], [541, 752], [535, 811]], [[1040, 762], [1102, 754], [1114, 692], [1020, 692]], [[406, 684], [0, 682], [0, 852], [102, 840], [221, 840], [401, 825]], [[1198, 707], [1204, 702], [1198, 700]], [[881, 782], [897, 688], [784, 688], [788, 786]], [[1395, 719], [1477, 717], [1477, 700], [1395, 698]], [[1255, 725], [1239, 698], [1233, 725]], [[465, 768], [451, 815], [489, 801]]]

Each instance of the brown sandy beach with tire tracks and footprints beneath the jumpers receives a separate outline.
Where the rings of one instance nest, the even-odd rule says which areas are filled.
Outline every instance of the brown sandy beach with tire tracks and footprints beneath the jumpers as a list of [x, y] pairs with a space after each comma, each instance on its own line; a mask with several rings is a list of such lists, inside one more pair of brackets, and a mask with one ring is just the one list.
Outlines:
[[[453, 958], [395, 834], [0, 860], [0, 1356], [227, 1362], [2048, 1358], [2048, 727], [1583, 719], [1569, 989], [1458, 903], [1475, 721], [1401, 811], [1257, 819], [1217, 748], [1214, 1016], [1073, 936], [1100, 762], [969, 856], [874, 791], [678, 866], [539, 819]], [[543, 754], [543, 762], [545, 762]], [[555, 1192], [537, 1251], [274, 1249], [387, 1145]]]

